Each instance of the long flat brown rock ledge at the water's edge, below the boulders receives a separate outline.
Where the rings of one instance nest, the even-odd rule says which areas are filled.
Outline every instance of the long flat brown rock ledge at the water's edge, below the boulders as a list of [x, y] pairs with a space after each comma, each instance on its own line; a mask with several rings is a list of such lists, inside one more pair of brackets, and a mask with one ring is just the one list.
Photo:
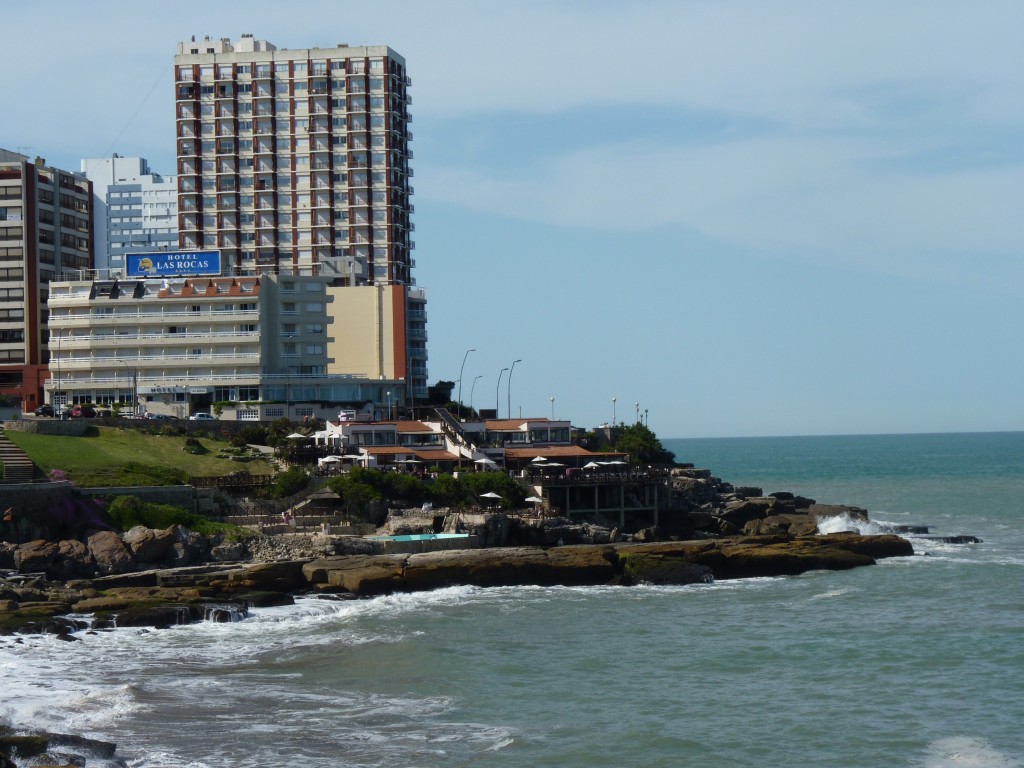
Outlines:
[[[737, 537], [687, 542], [504, 547], [417, 554], [339, 554], [265, 563], [117, 573], [67, 583], [0, 581], [0, 634], [87, 626], [164, 627], [233, 621], [303, 593], [368, 597], [452, 586], [696, 584], [870, 565], [912, 555], [896, 536]], [[91, 625], [70, 614], [91, 614]]]

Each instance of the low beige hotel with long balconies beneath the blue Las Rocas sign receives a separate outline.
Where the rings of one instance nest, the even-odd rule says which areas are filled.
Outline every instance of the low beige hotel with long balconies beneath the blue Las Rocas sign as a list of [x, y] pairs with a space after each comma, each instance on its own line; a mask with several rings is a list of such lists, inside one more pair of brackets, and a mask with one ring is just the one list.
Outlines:
[[334, 317], [329, 283], [263, 274], [53, 284], [47, 399], [254, 421], [400, 408], [400, 378], [337, 373], [330, 349], [364, 330]]

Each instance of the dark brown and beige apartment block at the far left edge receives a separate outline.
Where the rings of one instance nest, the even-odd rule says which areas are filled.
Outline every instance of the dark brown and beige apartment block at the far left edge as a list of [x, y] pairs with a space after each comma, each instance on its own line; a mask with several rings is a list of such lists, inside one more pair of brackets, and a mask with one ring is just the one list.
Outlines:
[[31, 411], [49, 376], [49, 285], [93, 266], [91, 184], [0, 150], [0, 393]]

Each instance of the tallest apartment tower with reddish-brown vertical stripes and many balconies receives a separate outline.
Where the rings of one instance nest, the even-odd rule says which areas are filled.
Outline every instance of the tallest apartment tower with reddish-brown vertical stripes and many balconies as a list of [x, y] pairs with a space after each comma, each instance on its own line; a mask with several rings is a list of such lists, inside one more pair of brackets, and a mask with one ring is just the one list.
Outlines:
[[[278, 49], [243, 35], [179, 43], [174, 61], [179, 247], [219, 250], [237, 275], [316, 274], [401, 294], [393, 374], [411, 401], [424, 397], [404, 58], [387, 46]], [[380, 333], [379, 317], [362, 321], [361, 333]], [[342, 354], [332, 365], [374, 375], [379, 364], [350, 370]]]

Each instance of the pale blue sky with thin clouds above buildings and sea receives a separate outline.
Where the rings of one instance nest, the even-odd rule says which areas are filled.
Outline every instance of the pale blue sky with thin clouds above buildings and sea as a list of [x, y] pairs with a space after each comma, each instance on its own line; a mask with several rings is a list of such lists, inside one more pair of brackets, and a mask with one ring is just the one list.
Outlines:
[[477, 408], [554, 397], [592, 427], [615, 398], [662, 437], [1024, 429], [1024, 4], [28, 5], [0, 146], [72, 170], [173, 172], [194, 34], [406, 56], [430, 381], [475, 349]]

